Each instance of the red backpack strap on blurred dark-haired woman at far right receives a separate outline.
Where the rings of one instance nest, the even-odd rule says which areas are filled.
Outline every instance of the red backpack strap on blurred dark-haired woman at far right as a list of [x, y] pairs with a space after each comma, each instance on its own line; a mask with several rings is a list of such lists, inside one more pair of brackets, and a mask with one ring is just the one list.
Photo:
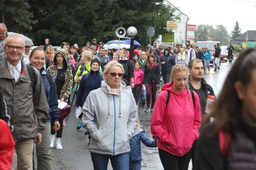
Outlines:
[[219, 131], [219, 149], [222, 152], [223, 158], [226, 159], [228, 148], [231, 141], [231, 134]]

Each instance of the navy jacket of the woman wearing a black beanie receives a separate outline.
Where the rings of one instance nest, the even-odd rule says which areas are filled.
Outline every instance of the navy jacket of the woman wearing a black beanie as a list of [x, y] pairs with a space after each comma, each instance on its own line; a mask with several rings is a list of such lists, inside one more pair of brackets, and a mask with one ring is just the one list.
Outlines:
[[83, 75], [82, 80], [80, 81], [80, 86], [77, 91], [76, 100], [75, 100], [75, 106], [76, 107], [83, 107], [84, 102], [89, 95], [89, 92], [92, 90], [95, 90], [97, 88], [100, 88], [101, 86], [101, 77], [99, 70], [94, 72], [93, 70], [90, 70], [87, 80], [85, 80], [85, 75]]

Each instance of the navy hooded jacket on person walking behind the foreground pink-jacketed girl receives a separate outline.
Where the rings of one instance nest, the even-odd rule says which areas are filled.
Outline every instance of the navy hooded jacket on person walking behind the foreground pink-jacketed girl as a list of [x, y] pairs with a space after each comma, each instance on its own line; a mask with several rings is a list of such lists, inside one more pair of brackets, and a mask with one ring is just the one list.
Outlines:
[[165, 50], [168, 50], [168, 54], [166, 55], [165, 52], [163, 52], [160, 57], [161, 62], [165, 62], [165, 64], [162, 64], [162, 73], [171, 73], [172, 67], [176, 63], [174, 57], [170, 54], [169, 48], [165, 48]]

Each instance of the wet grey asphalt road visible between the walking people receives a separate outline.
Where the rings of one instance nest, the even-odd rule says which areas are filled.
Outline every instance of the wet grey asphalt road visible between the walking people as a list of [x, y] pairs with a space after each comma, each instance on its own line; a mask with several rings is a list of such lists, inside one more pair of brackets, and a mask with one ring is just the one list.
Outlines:
[[[213, 87], [215, 95], [218, 96], [219, 92], [222, 89], [224, 80], [227, 76], [227, 73], [232, 65], [229, 65], [228, 62], [221, 63], [221, 69], [218, 72], [214, 72], [211, 67], [209, 73], [204, 74], [204, 79]], [[161, 82], [160, 86], [163, 85]], [[150, 131], [150, 121], [152, 114], [150, 112], [145, 113], [146, 105], [139, 105], [138, 112], [142, 124], [142, 129], [146, 131], [148, 138], [152, 139]], [[127, 108], [129, 109], [129, 108]], [[66, 121], [66, 119], [65, 119]], [[75, 117], [75, 107], [74, 104], [71, 109], [71, 114], [66, 121], [66, 126], [63, 128], [63, 134], [61, 138], [62, 150], [56, 149], [56, 143], [54, 143], [54, 148], [51, 152], [52, 157], [52, 166], [53, 169], [63, 169], [63, 170], [78, 170], [93, 169], [93, 163], [91, 161], [91, 156], [89, 152], [88, 145], [88, 135], [84, 135], [85, 129], [83, 128], [80, 131], [76, 130], [76, 126], [79, 123], [79, 119]], [[142, 151], [142, 169], [143, 170], [156, 170], [163, 169], [157, 148], [147, 148], [141, 143]], [[36, 159], [35, 159], [36, 160]], [[13, 169], [16, 169], [17, 158], [14, 154], [13, 158]], [[35, 161], [35, 167], [37, 166], [37, 161]], [[189, 170], [191, 169], [191, 163], [189, 165]], [[35, 168], [36, 169], [36, 168]], [[109, 161], [108, 169], [112, 169], [111, 163]]]

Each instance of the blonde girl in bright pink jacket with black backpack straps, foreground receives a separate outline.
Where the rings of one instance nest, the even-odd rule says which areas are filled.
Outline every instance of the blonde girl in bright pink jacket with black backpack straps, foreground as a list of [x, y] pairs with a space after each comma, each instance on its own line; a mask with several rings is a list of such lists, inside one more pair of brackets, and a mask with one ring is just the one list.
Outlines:
[[157, 138], [163, 168], [183, 170], [189, 162], [188, 156], [193, 142], [199, 137], [201, 107], [197, 93], [187, 89], [186, 66], [175, 65], [171, 78], [172, 82], [162, 87], [156, 100], [151, 132]]

